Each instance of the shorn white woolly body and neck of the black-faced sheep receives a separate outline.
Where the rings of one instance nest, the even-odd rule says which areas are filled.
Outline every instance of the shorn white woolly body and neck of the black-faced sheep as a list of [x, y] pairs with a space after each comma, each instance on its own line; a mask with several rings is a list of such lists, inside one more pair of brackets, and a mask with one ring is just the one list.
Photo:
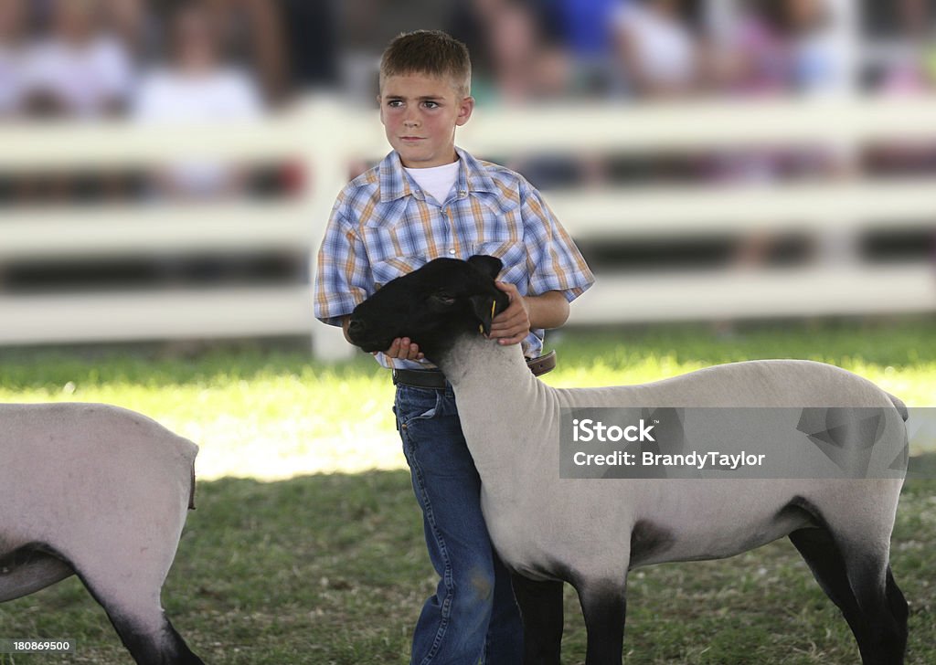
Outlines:
[[[519, 346], [481, 336], [461, 337], [439, 364], [481, 477], [491, 539], [524, 576], [572, 571], [623, 584], [636, 566], [729, 557], [807, 526], [805, 514], [783, 512], [794, 498], [821, 506], [843, 542], [860, 538], [864, 552], [870, 546], [887, 560], [902, 479], [559, 478], [563, 407], [896, 408], [855, 374], [810, 361], [764, 360], [655, 383], [556, 389], [534, 378]], [[640, 525], [651, 526], [650, 540], [662, 546], [632, 552]]]

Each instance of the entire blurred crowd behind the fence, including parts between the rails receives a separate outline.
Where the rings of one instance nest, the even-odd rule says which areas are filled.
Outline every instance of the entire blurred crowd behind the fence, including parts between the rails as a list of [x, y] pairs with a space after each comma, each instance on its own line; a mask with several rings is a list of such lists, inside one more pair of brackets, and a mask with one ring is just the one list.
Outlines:
[[[480, 108], [936, 91], [936, 0], [0, 0], [0, 123], [249, 121], [312, 90], [374, 107], [381, 51], [417, 28], [468, 45]], [[936, 171], [936, 141], [919, 140], [860, 154], [751, 146], [480, 156], [544, 189]], [[212, 160], [145, 172], [21, 169], [0, 172], [0, 205], [289, 195], [309, 175]], [[771, 260], [783, 240], [752, 234], [729, 260]], [[612, 250], [627, 264], [661, 261], [647, 247]]]

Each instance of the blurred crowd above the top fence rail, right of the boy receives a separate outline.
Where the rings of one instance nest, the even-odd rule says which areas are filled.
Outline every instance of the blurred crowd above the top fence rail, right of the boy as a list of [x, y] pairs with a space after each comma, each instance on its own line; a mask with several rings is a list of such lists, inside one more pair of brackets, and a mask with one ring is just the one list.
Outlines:
[[[472, 49], [481, 100], [936, 84], [931, 0], [464, 0], [447, 27]], [[882, 32], [899, 48], [868, 57]]]

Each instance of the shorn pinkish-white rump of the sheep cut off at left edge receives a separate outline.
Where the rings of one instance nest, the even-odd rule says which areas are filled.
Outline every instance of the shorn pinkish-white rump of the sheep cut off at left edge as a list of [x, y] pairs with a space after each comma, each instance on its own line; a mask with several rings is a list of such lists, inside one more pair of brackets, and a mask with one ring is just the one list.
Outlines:
[[55, 576], [49, 557], [74, 564], [103, 543], [126, 549], [114, 556], [174, 552], [197, 450], [117, 407], [0, 405], [0, 558]]

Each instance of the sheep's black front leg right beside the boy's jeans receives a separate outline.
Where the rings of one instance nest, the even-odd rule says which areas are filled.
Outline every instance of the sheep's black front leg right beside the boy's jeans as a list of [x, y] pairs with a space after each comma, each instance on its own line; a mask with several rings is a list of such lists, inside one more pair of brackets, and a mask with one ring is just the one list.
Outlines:
[[523, 619], [523, 665], [559, 665], [563, 643], [563, 583], [510, 576]]

